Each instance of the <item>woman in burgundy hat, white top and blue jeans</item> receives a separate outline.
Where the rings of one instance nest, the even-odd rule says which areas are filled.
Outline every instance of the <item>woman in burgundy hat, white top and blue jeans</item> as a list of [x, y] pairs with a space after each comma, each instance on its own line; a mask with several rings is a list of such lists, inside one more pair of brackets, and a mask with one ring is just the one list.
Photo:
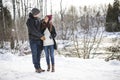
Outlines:
[[44, 51], [46, 55], [47, 62], [47, 71], [50, 71], [50, 59], [52, 64], [51, 72], [55, 72], [55, 60], [54, 60], [54, 49], [56, 49], [56, 31], [51, 22], [52, 15], [45, 16], [45, 19], [42, 21], [42, 31], [45, 36], [45, 40], [43, 41]]

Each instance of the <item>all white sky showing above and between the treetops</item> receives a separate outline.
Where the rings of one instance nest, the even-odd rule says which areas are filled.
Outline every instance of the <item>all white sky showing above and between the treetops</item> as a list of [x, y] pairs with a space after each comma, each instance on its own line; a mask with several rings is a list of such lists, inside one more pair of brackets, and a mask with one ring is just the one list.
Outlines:
[[[11, 0], [3, 0], [4, 5], [8, 6], [8, 8], [10, 8], [12, 12], [12, 4], [10, 3], [10, 1]], [[52, 1], [53, 13], [60, 11], [61, 0], [47, 0], [47, 14], [50, 14], [50, 9], [51, 9], [50, 1]], [[63, 0], [62, 6], [63, 6], [63, 9], [65, 8], [68, 9], [71, 5], [73, 5], [78, 9], [80, 6], [85, 6], [85, 5], [86, 6], [95, 6], [95, 5], [99, 6], [101, 4], [113, 3], [113, 1], [114, 0]], [[29, 0], [29, 3], [31, 3], [33, 7], [35, 7], [36, 2], [37, 0]]]

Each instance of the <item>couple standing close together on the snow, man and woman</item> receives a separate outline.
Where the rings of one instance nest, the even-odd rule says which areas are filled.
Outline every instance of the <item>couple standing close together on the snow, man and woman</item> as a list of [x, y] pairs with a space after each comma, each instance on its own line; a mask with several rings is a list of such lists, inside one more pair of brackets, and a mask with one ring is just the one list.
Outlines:
[[40, 20], [40, 10], [33, 8], [29, 13], [29, 18], [27, 20], [27, 28], [29, 34], [30, 48], [32, 52], [32, 61], [37, 73], [44, 72], [41, 68], [40, 59], [41, 53], [44, 49], [47, 71], [55, 72], [55, 60], [54, 60], [54, 49], [56, 49], [56, 31], [52, 25], [51, 19], [52, 15], [46, 15], [44, 19]]

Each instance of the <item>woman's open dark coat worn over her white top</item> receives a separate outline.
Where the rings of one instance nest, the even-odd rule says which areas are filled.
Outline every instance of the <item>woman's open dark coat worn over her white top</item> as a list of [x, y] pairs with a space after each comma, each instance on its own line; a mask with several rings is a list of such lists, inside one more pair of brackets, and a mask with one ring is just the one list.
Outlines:
[[44, 20], [41, 21], [41, 33], [44, 34], [44, 31], [46, 30], [46, 28], [48, 28], [49, 32], [51, 33], [51, 38], [54, 41], [54, 49], [57, 50], [57, 44], [55, 41], [55, 37], [57, 35], [55, 27], [52, 25], [50, 25], [49, 23], [45, 23]]

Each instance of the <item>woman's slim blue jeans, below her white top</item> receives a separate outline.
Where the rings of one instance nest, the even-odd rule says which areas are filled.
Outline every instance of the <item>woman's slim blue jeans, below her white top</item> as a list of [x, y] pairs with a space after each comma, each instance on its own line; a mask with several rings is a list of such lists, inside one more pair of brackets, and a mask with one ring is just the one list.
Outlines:
[[47, 65], [50, 65], [50, 58], [52, 65], [55, 64], [54, 62], [54, 45], [44, 46], [45, 56]]

